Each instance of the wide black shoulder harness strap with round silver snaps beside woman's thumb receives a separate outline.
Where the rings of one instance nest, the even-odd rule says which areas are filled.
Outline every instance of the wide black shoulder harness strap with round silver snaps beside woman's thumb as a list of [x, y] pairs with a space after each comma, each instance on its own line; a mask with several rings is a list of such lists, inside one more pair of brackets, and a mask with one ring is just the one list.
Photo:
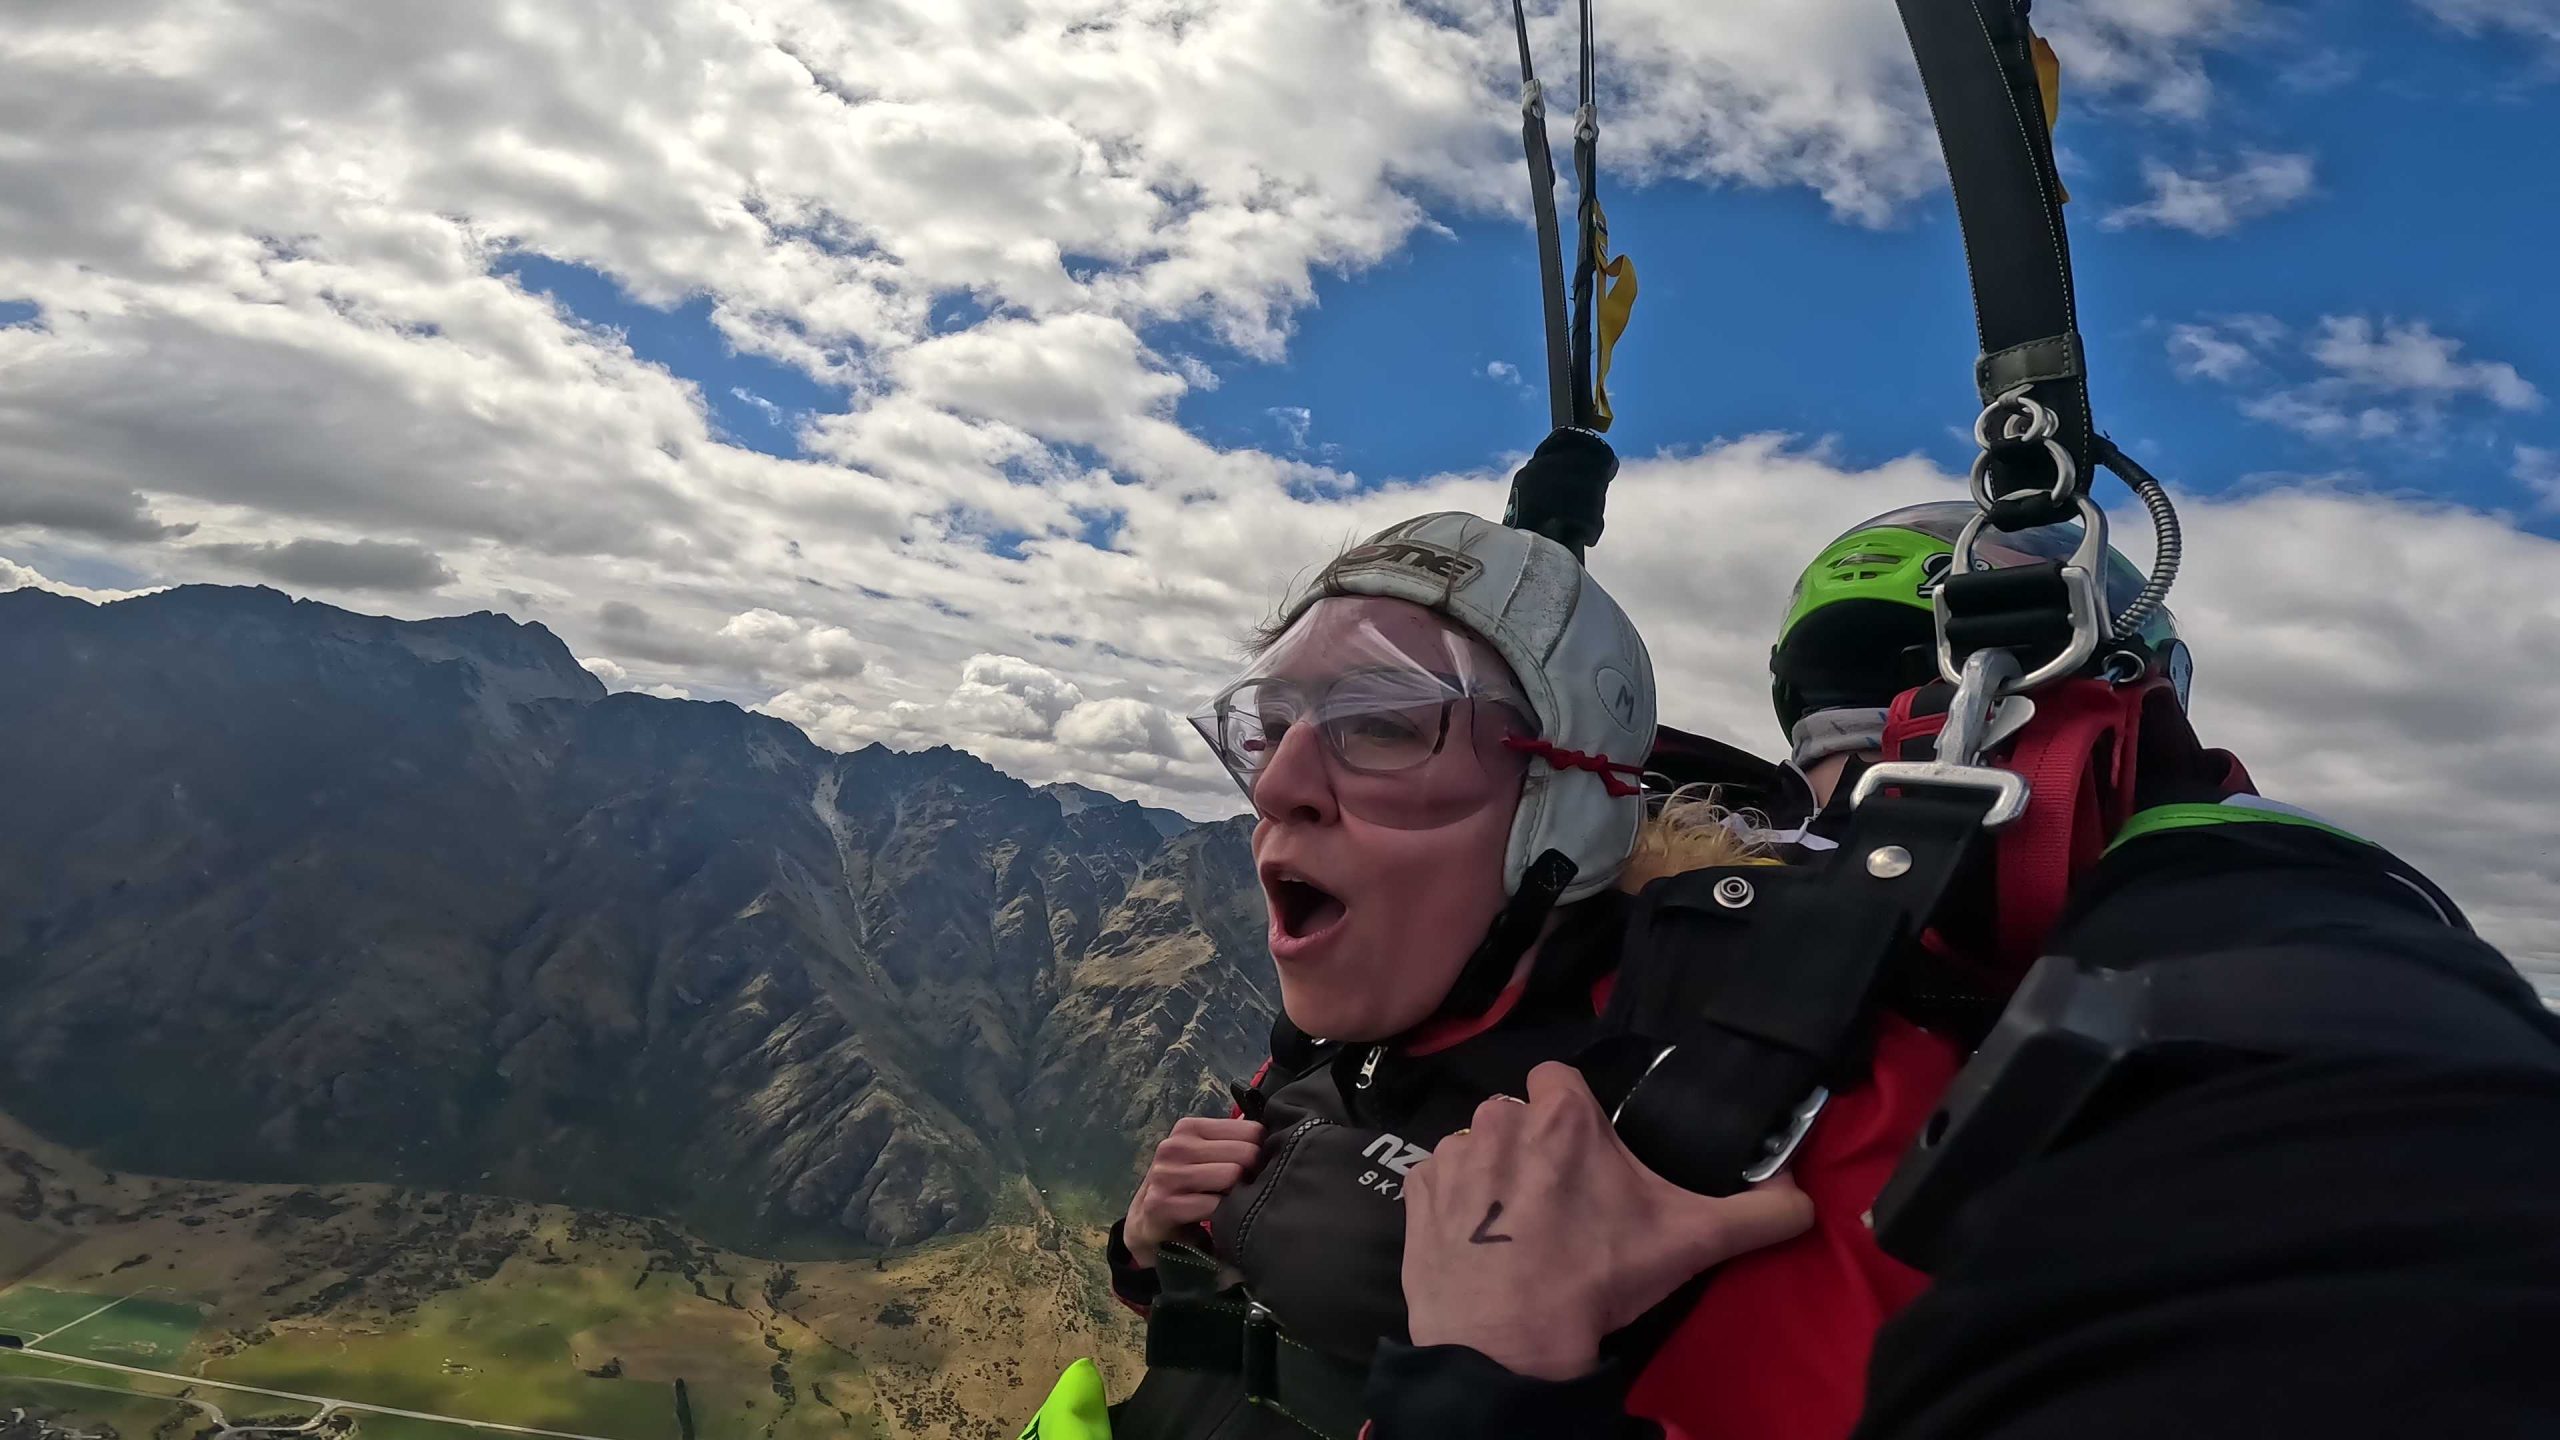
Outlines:
[[[1646, 887], [1603, 1017], [1615, 1035], [1577, 1061], [1618, 1138], [1684, 1189], [1743, 1189], [1815, 1086], [1864, 1076], [1887, 974], [1979, 856], [1984, 810], [1969, 792], [1879, 794], [1820, 866]], [[1718, 948], [1736, 922], [1743, 940]]]

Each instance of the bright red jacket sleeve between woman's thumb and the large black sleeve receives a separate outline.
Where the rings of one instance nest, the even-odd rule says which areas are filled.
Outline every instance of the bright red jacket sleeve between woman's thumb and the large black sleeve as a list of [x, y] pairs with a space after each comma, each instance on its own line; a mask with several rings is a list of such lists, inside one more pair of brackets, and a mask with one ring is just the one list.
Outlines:
[[1636, 1379], [1631, 1414], [1695, 1440], [1848, 1435], [1876, 1327], [1928, 1284], [1876, 1248], [1866, 1209], [1958, 1066], [1948, 1040], [1882, 1020], [1869, 1084], [1830, 1099], [1792, 1166], [1812, 1230], [1715, 1271]]

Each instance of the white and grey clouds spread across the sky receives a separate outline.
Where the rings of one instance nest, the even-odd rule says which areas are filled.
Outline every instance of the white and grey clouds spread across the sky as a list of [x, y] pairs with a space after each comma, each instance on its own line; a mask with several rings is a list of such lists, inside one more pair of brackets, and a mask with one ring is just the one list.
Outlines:
[[[2250, 15], [2040, 20], [2071, 95], [2194, 115]], [[1613, 5], [1610, 164], [1892, 220], [1943, 169], [1876, 18]], [[1567, 8], [1533, 26], [1554, 79]], [[28, 556], [166, 579], [218, 561], [197, 546], [379, 536], [458, 571], [384, 607], [507, 607], [617, 687], [1226, 815], [1178, 715], [1244, 628], [1349, 536], [1498, 512], [1503, 466], [1367, 489], [1216, 448], [1175, 420], [1211, 372], [1149, 341], [1283, 356], [1316, 277], [1441, 213], [1521, 215], [1505, 31], [1498, 5], [1388, 0], [453, 0], [328, 26], [287, 0], [18, 5], [0, 295], [44, 323], [0, 328], [0, 525]], [[694, 382], [512, 279], [522, 256], [701, 302], [727, 343], [850, 400], [794, 415], [804, 459], [722, 443]], [[2199, 377], [2327, 382], [2301, 402], [2350, 423], [2529, 389], [2452, 348], [2427, 369], [2442, 336], [2394, 320], [2209, 336], [2263, 374], [2191, 341]], [[1646, 625], [1664, 712], [1774, 751], [1764, 664], [1795, 564], [1848, 515], [1956, 492], [1782, 438], [1633, 456], [1595, 566]], [[2537, 848], [2560, 805], [2552, 546], [2296, 505], [2191, 507], [2202, 717], [2560, 956], [2537, 920], [2560, 912]]]

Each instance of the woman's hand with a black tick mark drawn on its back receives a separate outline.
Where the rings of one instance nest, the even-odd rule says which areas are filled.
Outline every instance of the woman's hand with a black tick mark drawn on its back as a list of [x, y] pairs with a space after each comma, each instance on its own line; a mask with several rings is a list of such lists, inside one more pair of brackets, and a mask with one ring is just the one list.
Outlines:
[[1526, 1102], [1487, 1099], [1405, 1179], [1413, 1343], [1585, 1376], [1603, 1335], [1810, 1225], [1812, 1202], [1787, 1176], [1715, 1199], [1644, 1168], [1582, 1074], [1549, 1061], [1528, 1071]]

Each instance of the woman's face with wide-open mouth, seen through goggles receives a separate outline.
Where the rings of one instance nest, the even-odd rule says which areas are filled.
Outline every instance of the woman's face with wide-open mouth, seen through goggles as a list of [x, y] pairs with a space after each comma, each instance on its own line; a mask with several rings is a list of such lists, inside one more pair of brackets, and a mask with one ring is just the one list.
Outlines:
[[[1364, 684], [1380, 646], [1418, 666], [1467, 669], [1467, 689], [1518, 697], [1490, 646], [1403, 600], [1331, 600], [1272, 656], [1270, 679], [1295, 694]], [[1329, 630], [1341, 643], [1329, 643]], [[1331, 687], [1331, 689], [1329, 689]], [[1254, 871], [1270, 904], [1280, 1004], [1293, 1025], [1331, 1040], [1382, 1040], [1434, 1010], [1503, 910], [1503, 856], [1526, 758], [1503, 735], [1528, 733], [1526, 702], [1452, 700], [1362, 715], [1336, 705], [1272, 725], [1252, 779]], [[1411, 769], [1364, 771], [1375, 728], [1444, 715], [1446, 733]], [[1349, 761], [1347, 761], [1349, 753]]]

